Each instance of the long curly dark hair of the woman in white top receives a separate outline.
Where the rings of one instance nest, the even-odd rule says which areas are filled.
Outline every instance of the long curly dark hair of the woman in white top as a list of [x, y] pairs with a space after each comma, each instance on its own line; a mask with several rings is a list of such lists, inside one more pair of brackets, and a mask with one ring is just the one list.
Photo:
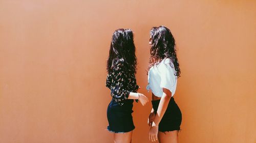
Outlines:
[[170, 59], [176, 70], [177, 77], [180, 77], [180, 65], [176, 55], [175, 39], [170, 32], [170, 30], [165, 26], [153, 27], [150, 31], [150, 65], [148, 66], [148, 71], [151, 67], [159, 64], [163, 59]]

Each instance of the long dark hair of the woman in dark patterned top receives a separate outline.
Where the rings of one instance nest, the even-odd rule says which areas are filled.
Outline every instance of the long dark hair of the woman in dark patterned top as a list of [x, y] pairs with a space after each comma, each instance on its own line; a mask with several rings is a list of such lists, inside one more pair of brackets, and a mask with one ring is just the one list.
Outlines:
[[112, 72], [112, 69], [119, 60], [124, 61], [125, 70], [136, 73], [137, 58], [135, 55], [133, 31], [131, 29], [120, 28], [113, 33], [106, 65], [108, 73]]

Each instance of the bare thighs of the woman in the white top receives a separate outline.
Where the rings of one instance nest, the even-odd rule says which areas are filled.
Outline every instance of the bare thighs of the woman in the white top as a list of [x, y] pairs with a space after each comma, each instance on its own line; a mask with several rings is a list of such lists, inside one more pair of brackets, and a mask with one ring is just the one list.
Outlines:
[[178, 143], [178, 130], [158, 132], [159, 143]]

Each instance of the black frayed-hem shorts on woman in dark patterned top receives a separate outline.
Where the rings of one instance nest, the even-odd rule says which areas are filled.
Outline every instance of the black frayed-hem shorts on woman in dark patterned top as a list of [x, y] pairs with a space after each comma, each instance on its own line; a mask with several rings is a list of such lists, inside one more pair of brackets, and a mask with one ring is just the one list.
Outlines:
[[125, 133], [135, 129], [132, 117], [133, 101], [133, 99], [127, 99], [121, 106], [112, 98], [106, 111], [109, 121], [109, 131], [114, 133]]

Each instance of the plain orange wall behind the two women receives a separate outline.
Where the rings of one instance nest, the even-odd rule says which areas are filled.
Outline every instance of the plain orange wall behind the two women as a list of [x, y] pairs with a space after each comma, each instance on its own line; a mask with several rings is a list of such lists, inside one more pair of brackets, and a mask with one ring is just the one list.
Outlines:
[[[106, 58], [132, 28], [142, 93], [152, 26], [172, 30], [181, 77], [180, 142], [256, 142], [256, 2], [0, 1], [0, 142], [112, 142]], [[133, 142], [147, 140], [134, 104]]]

